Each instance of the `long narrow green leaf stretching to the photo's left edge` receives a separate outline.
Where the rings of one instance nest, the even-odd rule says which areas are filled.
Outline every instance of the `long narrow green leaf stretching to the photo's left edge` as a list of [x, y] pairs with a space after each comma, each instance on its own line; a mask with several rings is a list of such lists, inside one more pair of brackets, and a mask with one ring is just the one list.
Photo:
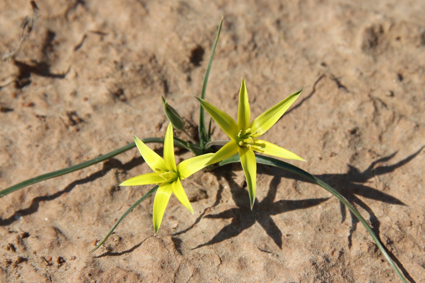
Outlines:
[[[147, 138], [147, 139], [142, 139], [142, 142], [144, 142], [144, 143], [153, 143], [153, 142], [164, 143], [164, 139], [161, 139], [161, 138]], [[190, 148], [187, 146], [187, 142], [185, 142], [185, 141], [183, 141], [181, 139], [178, 139], [176, 137], [174, 138], [174, 144], [177, 147], [184, 147], [187, 150], [190, 150]], [[11, 192], [14, 192], [16, 190], [22, 189], [23, 187], [26, 187], [26, 186], [29, 186], [29, 185], [38, 183], [40, 181], [44, 181], [44, 180], [51, 179], [51, 178], [54, 178], [54, 177], [59, 177], [59, 176], [62, 176], [62, 175], [65, 175], [65, 174], [68, 174], [68, 173], [71, 173], [71, 172], [74, 172], [74, 171], [83, 169], [85, 167], [89, 167], [89, 166], [94, 165], [96, 163], [99, 163], [99, 162], [108, 160], [109, 158], [112, 158], [112, 157], [114, 157], [114, 156], [116, 156], [116, 155], [118, 155], [120, 153], [123, 153], [123, 152], [125, 152], [127, 150], [130, 150], [133, 147], [136, 147], [136, 144], [134, 142], [132, 142], [130, 144], [127, 144], [124, 147], [120, 147], [117, 150], [113, 150], [110, 153], [106, 153], [106, 154], [104, 154], [102, 156], [93, 158], [91, 160], [82, 162], [80, 164], [76, 164], [76, 165], [73, 165], [73, 166], [70, 166], [70, 167], [61, 169], [61, 170], [53, 171], [53, 172], [50, 172], [50, 173], [46, 173], [46, 174], [43, 174], [43, 175], [40, 175], [40, 176], [37, 176], [37, 177], [34, 177], [34, 178], [30, 178], [30, 179], [25, 180], [25, 181], [22, 181], [22, 182], [20, 182], [18, 184], [15, 184], [15, 185], [11, 186], [11, 187], [8, 187], [7, 189], [1, 190], [0, 191], [0, 198], [3, 197], [3, 196], [5, 196], [5, 195], [7, 195], [7, 194], [10, 194]]]

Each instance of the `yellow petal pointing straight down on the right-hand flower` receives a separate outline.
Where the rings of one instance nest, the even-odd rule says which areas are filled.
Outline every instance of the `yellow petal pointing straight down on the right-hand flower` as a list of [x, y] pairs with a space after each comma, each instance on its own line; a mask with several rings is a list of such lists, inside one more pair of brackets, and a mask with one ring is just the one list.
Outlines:
[[246, 184], [248, 185], [249, 201], [251, 210], [255, 201], [256, 177], [257, 177], [257, 161], [255, 154], [247, 147], [239, 147], [239, 158], [241, 159], [242, 169], [245, 173]]

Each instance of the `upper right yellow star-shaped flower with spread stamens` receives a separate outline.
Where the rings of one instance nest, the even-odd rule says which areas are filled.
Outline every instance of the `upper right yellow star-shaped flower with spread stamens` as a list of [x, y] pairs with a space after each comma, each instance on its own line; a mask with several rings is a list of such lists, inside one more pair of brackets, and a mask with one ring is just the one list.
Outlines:
[[249, 109], [248, 93], [246, 91], [245, 81], [242, 79], [241, 90], [239, 91], [238, 123], [236, 123], [235, 120], [228, 114], [216, 108], [209, 102], [196, 97], [199, 102], [201, 102], [202, 107], [207, 110], [212, 119], [214, 119], [218, 126], [221, 127], [221, 130], [223, 130], [230, 138], [230, 141], [221, 147], [214, 156], [212, 156], [208, 165], [217, 163], [239, 153], [242, 169], [244, 170], [246, 177], [246, 184], [248, 185], [251, 209], [255, 201], [255, 181], [257, 174], [257, 163], [255, 161], [254, 151], [286, 159], [305, 161], [303, 158], [284, 149], [283, 147], [258, 139], [259, 136], [278, 122], [283, 113], [285, 113], [292, 103], [295, 102], [302, 90], [303, 89], [301, 88], [296, 93], [286, 97], [281, 102], [255, 118], [252, 122], [249, 122], [251, 119], [251, 110]]

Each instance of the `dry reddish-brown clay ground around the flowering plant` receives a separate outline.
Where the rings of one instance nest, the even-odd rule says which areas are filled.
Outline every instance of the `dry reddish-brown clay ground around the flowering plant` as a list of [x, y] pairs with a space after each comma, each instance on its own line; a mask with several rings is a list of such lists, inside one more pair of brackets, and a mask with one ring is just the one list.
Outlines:
[[[163, 137], [161, 95], [195, 135], [207, 100], [252, 118], [306, 85], [263, 139], [308, 162], [373, 226], [410, 282], [425, 282], [424, 1], [38, 1], [14, 59], [0, 63], [0, 189]], [[0, 2], [0, 53], [27, 0]], [[214, 139], [226, 136], [213, 123]], [[176, 135], [185, 138], [176, 131]], [[161, 154], [161, 144], [150, 144]], [[192, 156], [176, 149], [178, 161]], [[0, 199], [0, 282], [399, 282], [363, 226], [321, 187], [258, 165], [251, 211], [240, 164], [182, 183], [153, 237], [136, 149]]]

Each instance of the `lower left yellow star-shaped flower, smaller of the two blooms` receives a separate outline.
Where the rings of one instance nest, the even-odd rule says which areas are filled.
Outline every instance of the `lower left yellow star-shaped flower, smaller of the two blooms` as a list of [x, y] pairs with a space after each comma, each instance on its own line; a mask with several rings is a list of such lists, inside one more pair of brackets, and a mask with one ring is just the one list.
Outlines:
[[213, 156], [213, 153], [189, 158], [181, 161], [180, 164], [176, 166], [176, 160], [174, 159], [173, 126], [171, 123], [168, 124], [167, 133], [165, 133], [164, 159], [162, 159], [155, 151], [147, 147], [147, 145], [136, 136], [133, 137], [144, 161], [146, 161], [147, 165], [149, 165], [154, 172], [138, 175], [122, 182], [119, 185], [159, 185], [153, 201], [153, 228], [155, 229], [156, 234], [159, 226], [161, 225], [165, 208], [170, 200], [171, 192], [173, 192], [178, 201], [180, 201], [180, 203], [193, 214], [192, 205], [190, 204], [180, 181], [207, 166], [207, 163]]

